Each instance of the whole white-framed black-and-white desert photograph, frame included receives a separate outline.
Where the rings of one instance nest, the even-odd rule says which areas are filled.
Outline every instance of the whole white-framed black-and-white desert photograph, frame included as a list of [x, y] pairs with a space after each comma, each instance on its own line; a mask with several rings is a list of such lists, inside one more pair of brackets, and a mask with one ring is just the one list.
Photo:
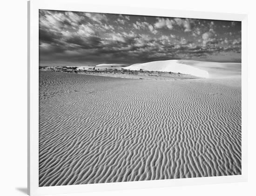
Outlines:
[[247, 15], [28, 13], [30, 195], [247, 181]]

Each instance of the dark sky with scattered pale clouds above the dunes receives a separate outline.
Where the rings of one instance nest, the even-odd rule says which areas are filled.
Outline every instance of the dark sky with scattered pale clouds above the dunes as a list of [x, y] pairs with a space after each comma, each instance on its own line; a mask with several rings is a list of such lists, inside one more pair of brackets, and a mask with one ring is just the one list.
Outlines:
[[40, 10], [40, 65], [241, 62], [241, 22]]

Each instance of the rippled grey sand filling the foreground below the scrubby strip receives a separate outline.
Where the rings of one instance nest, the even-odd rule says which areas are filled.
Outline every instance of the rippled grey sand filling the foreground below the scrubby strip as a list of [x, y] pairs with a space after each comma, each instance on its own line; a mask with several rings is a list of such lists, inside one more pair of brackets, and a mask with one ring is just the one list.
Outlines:
[[241, 77], [40, 71], [40, 186], [241, 174]]

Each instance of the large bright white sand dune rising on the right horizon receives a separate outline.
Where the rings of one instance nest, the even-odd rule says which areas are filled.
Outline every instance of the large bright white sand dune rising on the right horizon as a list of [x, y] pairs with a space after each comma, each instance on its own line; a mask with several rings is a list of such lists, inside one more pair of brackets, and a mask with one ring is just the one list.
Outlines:
[[190, 74], [201, 78], [220, 78], [241, 74], [241, 63], [217, 63], [195, 60], [162, 60], [134, 64], [128, 70], [147, 70]]

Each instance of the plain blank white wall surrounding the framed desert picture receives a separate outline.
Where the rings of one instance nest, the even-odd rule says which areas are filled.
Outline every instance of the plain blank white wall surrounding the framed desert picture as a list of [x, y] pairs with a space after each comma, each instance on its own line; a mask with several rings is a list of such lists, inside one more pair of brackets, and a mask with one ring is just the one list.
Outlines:
[[[252, 196], [256, 194], [256, 11], [252, 0], [93, 0], [86, 3], [249, 14], [249, 182], [136, 189], [75, 196]], [[0, 195], [27, 189], [27, 0], [0, 2]], [[66, 195], [69, 196], [69, 195]]]

